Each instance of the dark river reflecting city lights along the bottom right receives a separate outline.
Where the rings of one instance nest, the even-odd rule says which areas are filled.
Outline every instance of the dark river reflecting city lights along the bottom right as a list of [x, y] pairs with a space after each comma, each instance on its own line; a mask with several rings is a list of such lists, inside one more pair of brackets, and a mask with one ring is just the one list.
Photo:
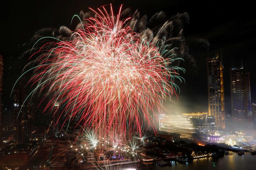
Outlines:
[[244, 153], [243, 156], [233, 152], [233, 155], [224, 155], [219, 158], [200, 158], [190, 160], [186, 163], [178, 163], [171, 161], [172, 166], [160, 166], [156, 163], [140, 163], [125, 166], [124, 169], [136, 170], [209, 170], [209, 169], [224, 169], [224, 170], [243, 170], [243, 169], [256, 169], [256, 155], [251, 153]]

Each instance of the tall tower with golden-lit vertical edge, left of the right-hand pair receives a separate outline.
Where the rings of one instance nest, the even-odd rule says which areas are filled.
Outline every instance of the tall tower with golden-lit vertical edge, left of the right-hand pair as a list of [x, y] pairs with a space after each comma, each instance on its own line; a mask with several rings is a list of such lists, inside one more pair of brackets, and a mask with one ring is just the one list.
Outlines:
[[207, 58], [208, 114], [225, 129], [223, 65], [219, 57]]

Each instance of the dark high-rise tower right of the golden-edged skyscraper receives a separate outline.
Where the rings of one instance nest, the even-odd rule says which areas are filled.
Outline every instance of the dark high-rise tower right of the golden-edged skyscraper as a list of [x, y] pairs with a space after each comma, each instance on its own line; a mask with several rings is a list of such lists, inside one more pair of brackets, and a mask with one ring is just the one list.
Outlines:
[[250, 73], [240, 68], [230, 69], [231, 107], [235, 126], [252, 124]]

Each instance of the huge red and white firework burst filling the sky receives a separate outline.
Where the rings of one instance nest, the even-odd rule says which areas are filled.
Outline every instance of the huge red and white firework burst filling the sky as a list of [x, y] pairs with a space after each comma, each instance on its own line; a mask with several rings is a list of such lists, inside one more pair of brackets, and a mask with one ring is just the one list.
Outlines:
[[30, 63], [35, 67], [29, 69], [34, 76], [28, 84], [34, 88], [28, 98], [47, 91], [44, 98], [52, 99], [44, 111], [55, 113], [58, 102], [63, 125], [79, 117], [77, 125], [98, 131], [100, 138], [110, 131], [142, 136], [142, 124], [155, 129], [150, 115], [156, 116], [163, 101], [176, 95], [174, 79], [182, 81], [178, 72], [184, 72], [172, 65], [180, 60], [177, 49], [134, 32], [134, 19], [121, 19], [121, 8], [117, 15], [111, 5], [109, 13], [104, 7], [91, 9], [95, 17], [84, 14], [75, 32], [61, 27], [59, 36], [39, 39], [35, 45], [46, 38], [54, 42], [30, 57], [39, 56]]

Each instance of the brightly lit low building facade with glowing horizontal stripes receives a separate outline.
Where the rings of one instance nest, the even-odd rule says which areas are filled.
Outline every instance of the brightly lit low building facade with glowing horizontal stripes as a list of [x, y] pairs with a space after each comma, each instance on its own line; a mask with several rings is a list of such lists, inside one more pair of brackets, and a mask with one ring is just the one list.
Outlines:
[[191, 138], [195, 132], [188, 116], [159, 114], [159, 130], [168, 133], [178, 133], [180, 137]]

